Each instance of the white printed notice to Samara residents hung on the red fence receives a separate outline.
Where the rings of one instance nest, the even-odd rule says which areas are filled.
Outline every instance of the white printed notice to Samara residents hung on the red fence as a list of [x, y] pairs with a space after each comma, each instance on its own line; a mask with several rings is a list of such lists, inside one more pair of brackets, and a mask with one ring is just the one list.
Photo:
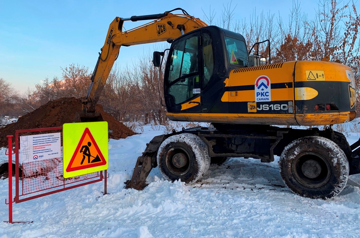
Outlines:
[[20, 161], [48, 160], [61, 156], [60, 133], [20, 136]]

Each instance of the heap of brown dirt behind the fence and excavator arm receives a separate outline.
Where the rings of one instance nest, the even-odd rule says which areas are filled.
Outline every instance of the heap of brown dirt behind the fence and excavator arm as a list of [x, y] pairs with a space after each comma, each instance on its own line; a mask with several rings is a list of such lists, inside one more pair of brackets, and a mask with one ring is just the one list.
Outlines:
[[[74, 97], [60, 98], [42, 105], [35, 111], [20, 117], [17, 122], [0, 128], [0, 148], [8, 146], [8, 138], [6, 136], [15, 135], [15, 130], [57, 127], [62, 126], [64, 123], [72, 122], [75, 118], [75, 113], [80, 112], [81, 107], [81, 99]], [[96, 105], [96, 112], [100, 112], [104, 121], [108, 122], [110, 139], [126, 138], [136, 134], [110, 114], [104, 112], [103, 107], [99, 104]]]

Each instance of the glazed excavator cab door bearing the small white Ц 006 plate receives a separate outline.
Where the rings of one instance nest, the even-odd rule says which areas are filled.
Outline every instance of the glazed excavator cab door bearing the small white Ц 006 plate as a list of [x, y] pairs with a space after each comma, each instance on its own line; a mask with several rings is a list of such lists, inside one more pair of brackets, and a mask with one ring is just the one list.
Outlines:
[[165, 73], [165, 100], [168, 112], [201, 111], [201, 69], [199, 32], [174, 42]]

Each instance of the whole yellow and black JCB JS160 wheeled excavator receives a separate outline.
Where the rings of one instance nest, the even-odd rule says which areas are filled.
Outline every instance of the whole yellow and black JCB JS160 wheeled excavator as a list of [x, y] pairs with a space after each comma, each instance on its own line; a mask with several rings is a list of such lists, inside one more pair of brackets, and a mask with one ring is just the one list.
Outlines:
[[[172, 14], [174, 10], [183, 14]], [[150, 170], [157, 166], [164, 178], [192, 184], [210, 163], [222, 163], [228, 157], [271, 162], [280, 156], [285, 184], [309, 198], [336, 196], [349, 174], [360, 173], [360, 142], [350, 146], [343, 134], [331, 128], [356, 116], [355, 78], [350, 68], [328, 62], [328, 57], [271, 63], [269, 55], [269, 62], [261, 64], [260, 55], [249, 55], [242, 35], [207, 26], [183, 9], [174, 10], [114, 19], [77, 119], [92, 121], [98, 116], [95, 105], [120, 46], [168, 41], [167, 117], [211, 122], [213, 127], [153, 138], [138, 158], [126, 188], [143, 189]], [[122, 31], [124, 21], [150, 19], [154, 21]], [[154, 52], [155, 66], [160, 66], [164, 55]], [[329, 126], [305, 130], [271, 125]]]

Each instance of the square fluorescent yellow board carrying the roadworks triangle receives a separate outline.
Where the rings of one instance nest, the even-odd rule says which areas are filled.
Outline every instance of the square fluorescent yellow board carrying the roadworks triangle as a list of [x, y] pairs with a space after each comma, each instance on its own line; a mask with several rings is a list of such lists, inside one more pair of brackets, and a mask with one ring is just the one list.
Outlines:
[[[87, 123], [71, 123], [70, 127], [76, 126], [76, 124], [86, 124], [87, 127], [83, 128], [86, 125], [79, 125], [82, 128], [80, 139], [74, 139], [74, 130], [69, 130], [67, 124], [63, 125], [63, 140], [64, 140], [64, 178], [69, 178], [72, 176], [78, 176], [81, 174], [88, 174], [90, 172], [97, 172], [103, 169], [107, 169], [107, 160], [103, 155], [103, 152], [106, 152], [106, 156], [108, 156], [108, 130], [107, 124], [105, 131], [105, 136], [97, 136], [101, 138], [100, 140], [95, 140], [95, 136], [97, 135], [98, 126], [89, 128], [88, 124], [91, 123], [99, 123], [99, 122], [87, 122]], [[66, 131], [68, 133], [72, 133], [72, 136], [67, 137]], [[95, 133], [92, 133], [95, 131]], [[95, 134], [95, 136], [93, 136]], [[79, 138], [79, 137], [77, 137]], [[72, 143], [68, 143], [66, 139], [71, 139]], [[104, 142], [103, 142], [104, 140]], [[100, 143], [99, 143], [100, 141]], [[105, 144], [105, 145], [103, 145]], [[68, 145], [68, 146], [67, 146]], [[99, 146], [100, 145], [100, 146]], [[67, 146], [67, 147], [66, 147]], [[76, 147], [75, 147], [76, 146]], [[69, 148], [68, 148], [69, 147]], [[100, 149], [99, 147], [102, 147]], [[72, 152], [71, 152], [72, 151]], [[105, 167], [104, 167], [105, 166]], [[102, 168], [99, 170], [99, 167]], [[79, 174], [81, 172], [81, 174]]]

